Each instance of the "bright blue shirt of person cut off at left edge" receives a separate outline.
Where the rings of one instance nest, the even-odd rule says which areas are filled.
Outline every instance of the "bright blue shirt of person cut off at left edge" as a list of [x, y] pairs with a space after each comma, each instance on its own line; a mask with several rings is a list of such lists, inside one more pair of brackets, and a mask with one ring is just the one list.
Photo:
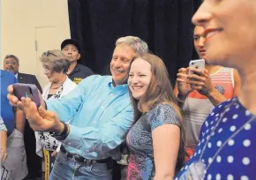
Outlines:
[[4, 120], [4, 124], [7, 128], [7, 133], [10, 134], [14, 130], [15, 119], [12, 111], [12, 107], [7, 99], [7, 87], [18, 83], [18, 80], [9, 71], [2, 71], [0, 73], [0, 85], [1, 85], [1, 111], [0, 116]]

